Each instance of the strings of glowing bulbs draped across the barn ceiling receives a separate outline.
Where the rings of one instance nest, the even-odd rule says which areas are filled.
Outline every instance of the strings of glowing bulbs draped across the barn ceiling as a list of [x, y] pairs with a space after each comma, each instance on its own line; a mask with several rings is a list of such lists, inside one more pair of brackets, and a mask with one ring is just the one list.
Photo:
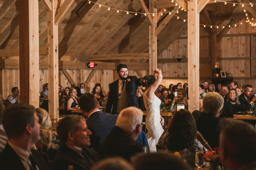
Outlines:
[[[233, 4], [233, 6], [235, 6], [235, 4], [240, 4], [240, 3], [231, 3], [231, 2], [226, 2], [226, 1], [221, 1], [221, 0], [215, 0], [214, 2], [216, 3], [217, 1], [219, 1], [219, 2], [224, 2], [225, 4], [227, 4], [227, 3], [229, 3], [229, 4]], [[99, 5], [99, 7], [106, 7], [106, 8], [108, 8], [108, 10], [110, 10], [110, 9], [112, 9], [112, 10], [116, 10], [117, 12], [119, 12], [119, 11], [121, 11], [121, 12], [126, 12], [127, 14], [129, 14], [129, 13], [134, 13], [135, 15], [137, 15], [137, 14], [144, 14], [145, 16], [147, 16], [147, 15], [152, 15], [152, 16], [155, 16], [155, 15], [157, 15], [157, 14], [161, 14], [161, 15], [163, 15], [164, 13], [169, 13], [169, 14], [171, 14], [171, 11], [167, 11], [166, 9], [164, 9], [164, 12], [156, 12], [156, 13], [146, 13], [146, 12], [132, 12], [132, 11], [125, 11], [125, 10], [120, 10], [120, 9], [116, 9], [116, 8], [112, 8], [112, 7], [108, 7], [108, 6], [105, 6], [105, 5], [102, 5], [102, 4], [99, 4], [99, 3], [96, 3], [96, 2], [93, 2], [93, 1], [89, 1], [89, 4], [91, 4], [91, 3], [94, 3], [94, 4], [97, 4], [97, 5]], [[172, 3], [176, 3], [175, 4], [175, 6], [178, 6], [179, 4], [177, 3], [177, 2], [175, 2], [174, 0], [172, 0]], [[242, 4], [242, 7], [244, 7], [244, 5], [251, 5], [251, 6], [253, 6], [254, 4], [252, 4], [252, 3], [250, 3], [250, 4]], [[255, 4], [256, 5], [256, 4]], [[181, 8], [181, 6], [179, 5], [179, 9]], [[180, 10], [176, 10], [176, 11], [172, 11], [172, 13], [173, 12], [175, 12], [175, 13], [179, 13], [179, 11], [183, 11], [184, 9], [183, 8], [181, 8]], [[185, 11], [185, 10], [184, 10]], [[253, 20], [253, 18], [251, 18], [251, 20], [248, 18], [248, 14], [246, 13], [246, 11], [245, 11], [245, 9], [244, 9], [244, 12], [245, 12], [245, 15], [246, 15], [246, 23], [250, 23], [250, 24], [252, 24], [252, 26], [255, 26], [255, 24], [256, 23], [252, 23], [252, 21], [251, 20]], [[176, 16], [177, 17], [177, 19], [183, 19], [183, 21], [184, 22], [186, 22], [186, 21], [188, 21], [187, 19], [184, 19], [184, 18], [180, 18], [179, 16], [177, 16], [177, 15], [174, 15], [174, 16]], [[237, 25], [238, 24], [243, 24], [242, 22], [239, 22], [239, 23], [237, 23]], [[206, 27], [206, 26], [209, 26], [209, 27], [216, 27], [216, 28], [219, 28], [219, 27], [222, 27], [222, 28], [225, 28], [225, 26], [224, 25], [205, 25], [205, 24], [199, 24], [199, 25], [203, 25], [204, 27]], [[233, 25], [235, 25], [235, 26], [237, 26], [236, 24], [233, 24]], [[232, 26], [233, 26], [232, 25]], [[228, 27], [231, 27], [231, 25], [227, 25]]]

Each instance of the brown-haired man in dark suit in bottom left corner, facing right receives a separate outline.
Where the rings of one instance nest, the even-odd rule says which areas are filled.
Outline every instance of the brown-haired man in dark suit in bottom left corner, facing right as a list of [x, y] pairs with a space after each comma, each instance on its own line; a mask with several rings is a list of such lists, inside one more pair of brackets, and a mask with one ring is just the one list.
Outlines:
[[1, 169], [49, 169], [42, 154], [32, 149], [40, 140], [38, 120], [31, 105], [17, 104], [4, 110], [2, 121], [8, 142], [0, 153]]

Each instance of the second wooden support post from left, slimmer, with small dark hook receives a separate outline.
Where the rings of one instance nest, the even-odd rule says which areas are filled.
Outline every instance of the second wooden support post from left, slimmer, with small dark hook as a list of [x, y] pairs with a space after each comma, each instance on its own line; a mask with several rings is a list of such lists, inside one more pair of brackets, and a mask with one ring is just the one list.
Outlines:
[[55, 11], [58, 0], [52, 0], [51, 11], [48, 11], [48, 83], [49, 115], [51, 119], [59, 117], [59, 51], [58, 25], [55, 25]]

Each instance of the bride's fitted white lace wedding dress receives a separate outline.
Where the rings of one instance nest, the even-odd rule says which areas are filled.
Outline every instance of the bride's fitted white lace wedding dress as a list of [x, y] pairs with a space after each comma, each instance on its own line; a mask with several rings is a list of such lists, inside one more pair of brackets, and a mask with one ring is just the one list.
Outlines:
[[161, 116], [160, 116], [160, 104], [161, 100], [154, 95], [154, 100], [150, 100], [147, 97], [148, 90], [143, 93], [143, 100], [145, 103], [146, 110], [148, 112], [146, 118], [146, 128], [148, 133], [146, 134], [148, 139], [148, 145], [150, 152], [156, 152], [156, 144], [164, 132], [161, 126]]

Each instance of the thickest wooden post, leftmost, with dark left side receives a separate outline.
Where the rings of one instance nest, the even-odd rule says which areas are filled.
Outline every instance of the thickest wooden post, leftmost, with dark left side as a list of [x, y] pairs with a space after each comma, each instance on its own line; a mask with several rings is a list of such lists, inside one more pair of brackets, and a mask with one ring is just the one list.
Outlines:
[[19, 0], [20, 103], [39, 107], [38, 1]]

